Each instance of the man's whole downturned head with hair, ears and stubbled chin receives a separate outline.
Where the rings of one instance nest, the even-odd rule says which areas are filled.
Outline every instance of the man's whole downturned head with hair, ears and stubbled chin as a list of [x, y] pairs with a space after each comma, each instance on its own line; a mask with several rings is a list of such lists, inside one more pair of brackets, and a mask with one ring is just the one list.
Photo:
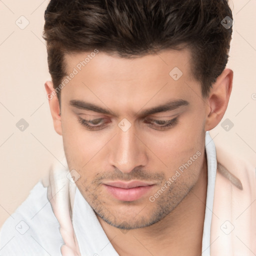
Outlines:
[[[151, 225], [196, 185], [205, 131], [231, 91], [226, 16], [225, 0], [50, 1], [54, 128], [77, 187], [106, 222]], [[153, 185], [129, 194], [111, 186], [131, 180]]]

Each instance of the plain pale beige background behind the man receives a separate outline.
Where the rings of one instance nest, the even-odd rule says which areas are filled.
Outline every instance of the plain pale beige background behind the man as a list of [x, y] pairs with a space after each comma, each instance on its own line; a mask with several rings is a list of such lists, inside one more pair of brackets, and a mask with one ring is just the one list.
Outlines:
[[[64, 155], [44, 91], [44, 82], [50, 79], [41, 38], [47, 3], [0, 1], [0, 226], [47, 173], [51, 162]], [[226, 131], [221, 121], [210, 134], [214, 142], [255, 167], [256, 0], [233, 0], [230, 5], [234, 24], [227, 67], [234, 71], [234, 79], [222, 121], [228, 118], [234, 126]], [[15, 23], [21, 15], [29, 21], [24, 29]], [[24, 131], [16, 127], [21, 118], [29, 124]]]

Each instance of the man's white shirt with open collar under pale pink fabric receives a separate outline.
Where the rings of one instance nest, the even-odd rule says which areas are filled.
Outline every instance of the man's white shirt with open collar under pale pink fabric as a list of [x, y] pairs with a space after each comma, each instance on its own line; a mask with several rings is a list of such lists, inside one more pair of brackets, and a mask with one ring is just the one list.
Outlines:
[[[215, 145], [205, 134], [207, 157], [207, 194], [202, 236], [202, 256], [209, 256], [210, 224], [216, 177]], [[76, 187], [72, 224], [82, 256], [118, 256], [101, 227], [93, 209]], [[0, 256], [60, 256], [63, 239], [59, 223], [47, 199], [47, 188], [41, 181], [25, 201], [11, 214], [0, 229]]]

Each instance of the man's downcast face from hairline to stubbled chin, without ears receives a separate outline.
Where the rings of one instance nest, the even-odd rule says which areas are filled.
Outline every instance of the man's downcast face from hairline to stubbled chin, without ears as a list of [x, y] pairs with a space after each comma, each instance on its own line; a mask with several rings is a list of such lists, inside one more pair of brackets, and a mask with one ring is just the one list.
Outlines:
[[151, 225], [186, 196], [203, 164], [207, 114], [189, 51], [135, 59], [99, 51], [79, 65], [87, 54], [65, 59], [68, 74], [78, 71], [61, 89], [69, 170], [79, 173], [78, 189], [107, 223]]

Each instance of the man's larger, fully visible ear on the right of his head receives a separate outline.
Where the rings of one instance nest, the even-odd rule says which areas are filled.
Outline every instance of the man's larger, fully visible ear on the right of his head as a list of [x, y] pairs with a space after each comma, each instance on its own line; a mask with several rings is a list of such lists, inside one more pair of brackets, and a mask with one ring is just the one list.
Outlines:
[[204, 130], [213, 129], [222, 119], [232, 90], [233, 71], [225, 68], [212, 84], [207, 98], [207, 116]]

